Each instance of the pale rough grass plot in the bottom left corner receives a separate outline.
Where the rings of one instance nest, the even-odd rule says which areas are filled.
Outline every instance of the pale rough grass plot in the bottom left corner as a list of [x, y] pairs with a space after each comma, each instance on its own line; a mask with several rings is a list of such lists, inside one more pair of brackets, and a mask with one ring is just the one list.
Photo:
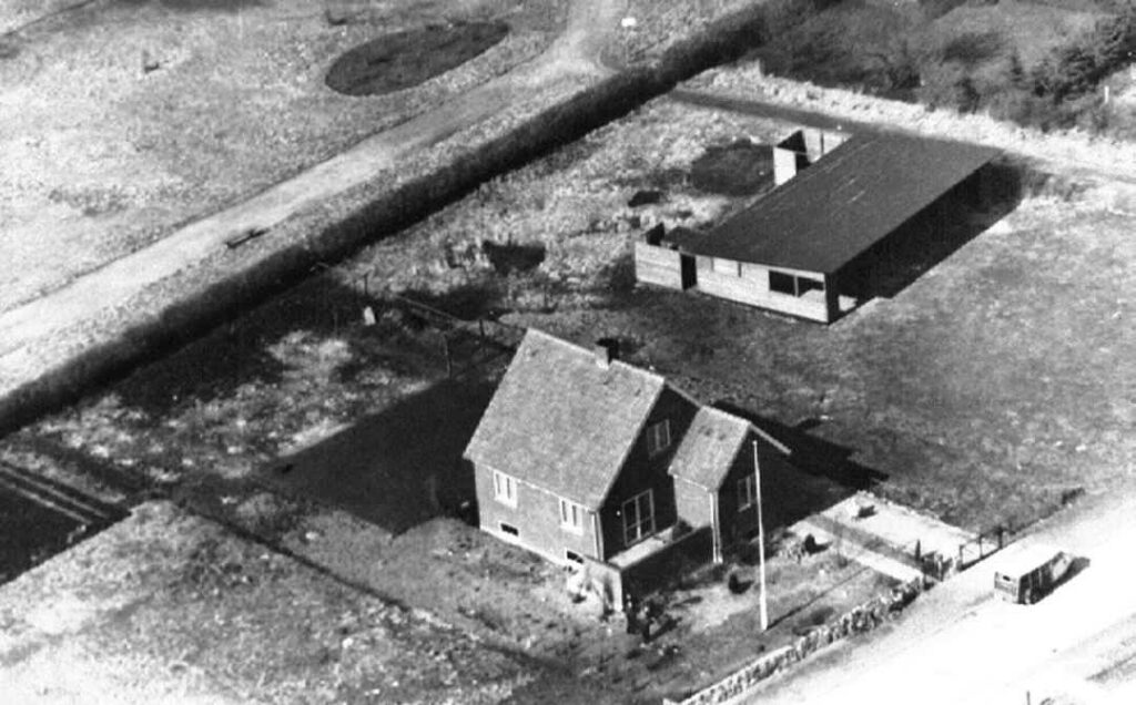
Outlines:
[[537, 672], [162, 502], [0, 595], [9, 702], [498, 703]]

